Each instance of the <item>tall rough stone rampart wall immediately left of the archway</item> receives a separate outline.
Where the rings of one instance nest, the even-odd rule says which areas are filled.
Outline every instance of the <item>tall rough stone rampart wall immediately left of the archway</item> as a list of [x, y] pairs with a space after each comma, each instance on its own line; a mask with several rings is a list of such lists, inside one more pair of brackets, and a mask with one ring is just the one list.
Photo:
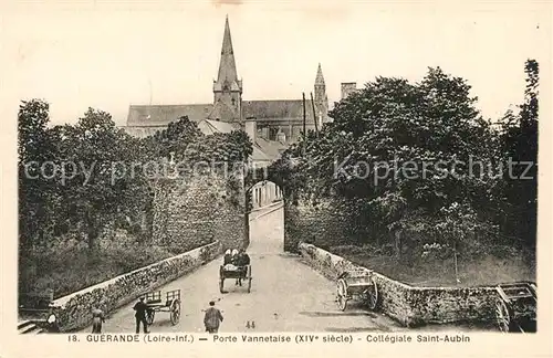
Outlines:
[[248, 245], [242, 178], [205, 172], [160, 179], [155, 189], [153, 244], [198, 248], [215, 240], [221, 249]]

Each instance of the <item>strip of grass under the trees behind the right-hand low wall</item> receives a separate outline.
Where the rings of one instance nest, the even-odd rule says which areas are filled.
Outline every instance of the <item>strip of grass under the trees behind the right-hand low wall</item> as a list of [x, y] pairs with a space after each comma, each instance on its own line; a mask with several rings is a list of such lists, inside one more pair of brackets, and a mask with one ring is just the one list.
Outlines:
[[492, 286], [498, 283], [535, 281], [535, 261], [520, 252], [459, 257], [456, 280], [453, 259], [404, 259], [373, 254], [369, 248], [336, 246], [331, 251], [361, 266], [413, 286]]

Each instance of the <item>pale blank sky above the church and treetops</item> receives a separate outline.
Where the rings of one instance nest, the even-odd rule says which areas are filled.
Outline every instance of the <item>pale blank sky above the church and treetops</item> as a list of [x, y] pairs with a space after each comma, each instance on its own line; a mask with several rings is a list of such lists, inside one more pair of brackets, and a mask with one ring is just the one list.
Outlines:
[[321, 63], [342, 82], [463, 77], [484, 117], [524, 91], [524, 62], [550, 62], [547, 2], [41, 1], [0, 6], [4, 99], [43, 98], [54, 124], [87, 107], [122, 125], [131, 104], [212, 102], [226, 15], [244, 99], [301, 98]]

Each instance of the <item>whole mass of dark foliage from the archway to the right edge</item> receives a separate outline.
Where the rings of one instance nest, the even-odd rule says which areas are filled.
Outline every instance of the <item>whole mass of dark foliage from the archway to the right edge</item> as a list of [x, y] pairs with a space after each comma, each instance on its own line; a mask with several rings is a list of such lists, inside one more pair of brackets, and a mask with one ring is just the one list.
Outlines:
[[[439, 67], [419, 83], [377, 77], [336, 103], [333, 123], [270, 170], [289, 200], [332, 201], [367, 244], [387, 236], [398, 254], [405, 244], [422, 252], [439, 243], [467, 255], [489, 242], [515, 244], [505, 235], [514, 225], [535, 242], [536, 182], [508, 179], [504, 169], [510, 157], [536, 162], [535, 62], [526, 74], [521, 113], [501, 129], [476, 109], [470, 85]], [[503, 214], [515, 211], [525, 214], [509, 215], [507, 225]]]

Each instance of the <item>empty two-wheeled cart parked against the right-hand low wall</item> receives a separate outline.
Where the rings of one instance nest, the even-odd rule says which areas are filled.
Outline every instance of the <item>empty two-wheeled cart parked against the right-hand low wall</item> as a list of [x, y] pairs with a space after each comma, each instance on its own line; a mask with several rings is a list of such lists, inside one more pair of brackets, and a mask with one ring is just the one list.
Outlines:
[[378, 303], [378, 287], [369, 270], [352, 270], [342, 273], [336, 282], [336, 303], [345, 310], [349, 299], [363, 299], [374, 310]]

